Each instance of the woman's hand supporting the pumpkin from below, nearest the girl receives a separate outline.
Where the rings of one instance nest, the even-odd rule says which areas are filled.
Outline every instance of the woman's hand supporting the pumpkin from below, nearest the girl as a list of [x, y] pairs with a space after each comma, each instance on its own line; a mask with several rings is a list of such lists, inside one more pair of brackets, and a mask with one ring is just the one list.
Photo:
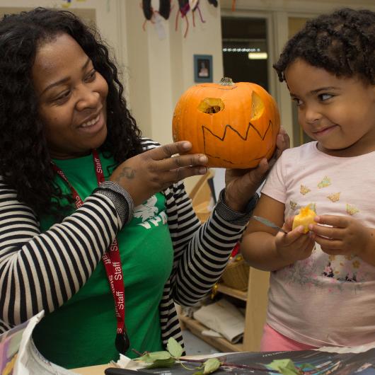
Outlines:
[[257, 168], [253, 169], [226, 169], [225, 174], [225, 200], [231, 209], [243, 212], [248, 201], [255, 195], [260, 188], [267, 172], [273, 166], [282, 151], [289, 149], [290, 139], [285, 130], [280, 127], [279, 134], [276, 139], [277, 149], [274, 155], [267, 161], [263, 158]]

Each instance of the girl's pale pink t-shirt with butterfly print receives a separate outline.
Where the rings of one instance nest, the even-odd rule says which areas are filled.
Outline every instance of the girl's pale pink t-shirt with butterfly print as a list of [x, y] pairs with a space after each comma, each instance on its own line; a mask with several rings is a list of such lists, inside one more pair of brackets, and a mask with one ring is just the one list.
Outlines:
[[[317, 142], [284, 151], [262, 194], [285, 204], [285, 217], [311, 204], [319, 214], [351, 216], [375, 228], [375, 151], [351, 158], [323, 154]], [[375, 267], [316, 244], [306, 259], [271, 272], [267, 323], [307, 345], [375, 341]]]

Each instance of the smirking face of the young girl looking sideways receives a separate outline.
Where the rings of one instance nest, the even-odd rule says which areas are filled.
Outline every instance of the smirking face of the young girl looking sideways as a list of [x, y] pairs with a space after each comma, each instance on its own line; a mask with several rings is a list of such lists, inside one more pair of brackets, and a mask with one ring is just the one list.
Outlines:
[[356, 77], [338, 78], [303, 59], [287, 67], [285, 79], [299, 124], [318, 141], [318, 149], [335, 156], [375, 151], [375, 86]]

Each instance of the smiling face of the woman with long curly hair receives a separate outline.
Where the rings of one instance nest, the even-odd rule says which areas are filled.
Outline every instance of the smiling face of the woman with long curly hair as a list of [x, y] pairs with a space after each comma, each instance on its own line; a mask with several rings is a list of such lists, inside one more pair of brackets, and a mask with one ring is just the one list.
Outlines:
[[86, 155], [103, 144], [108, 84], [71, 36], [42, 44], [32, 74], [52, 158]]

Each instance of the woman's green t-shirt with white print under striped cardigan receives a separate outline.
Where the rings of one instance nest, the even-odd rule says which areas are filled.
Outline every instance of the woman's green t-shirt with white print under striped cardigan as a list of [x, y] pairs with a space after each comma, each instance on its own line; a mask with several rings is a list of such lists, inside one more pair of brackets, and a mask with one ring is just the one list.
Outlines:
[[[115, 162], [103, 154], [100, 161], [108, 178], [108, 167]], [[91, 155], [54, 162], [82, 200], [91, 195], [97, 186]], [[70, 192], [62, 178], [57, 178], [57, 183], [63, 192]], [[46, 231], [52, 224], [52, 217], [43, 217], [41, 230]], [[165, 197], [158, 193], [136, 207], [132, 221], [118, 233], [117, 239], [125, 282], [125, 323], [130, 349], [163, 350], [158, 305], [173, 264]], [[117, 360], [116, 328], [115, 302], [100, 261], [79, 292], [42, 319], [33, 338], [47, 359], [69, 369]], [[131, 350], [126, 355], [137, 357]]]

